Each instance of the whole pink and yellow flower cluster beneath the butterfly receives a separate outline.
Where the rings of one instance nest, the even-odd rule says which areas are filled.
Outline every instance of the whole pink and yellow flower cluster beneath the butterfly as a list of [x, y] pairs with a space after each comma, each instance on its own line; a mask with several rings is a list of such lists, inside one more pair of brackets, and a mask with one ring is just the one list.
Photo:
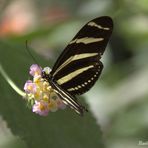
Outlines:
[[50, 111], [55, 112], [58, 109], [64, 109], [66, 106], [48, 81], [42, 78], [42, 71], [50, 73], [51, 69], [49, 67], [42, 69], [37, 64], [30, 67], [29, 73], [33, 80], [26, 81], [24, 90], [27, 101], [31, 102], [32, 111], [41, 116], [47, 116]]

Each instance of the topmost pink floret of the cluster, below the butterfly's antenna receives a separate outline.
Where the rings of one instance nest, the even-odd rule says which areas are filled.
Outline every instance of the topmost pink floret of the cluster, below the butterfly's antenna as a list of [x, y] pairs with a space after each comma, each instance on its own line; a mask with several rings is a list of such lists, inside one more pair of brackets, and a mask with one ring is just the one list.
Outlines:
[[38, 66], [37, 64], [33, 64], [30, 67], [30, 72], [29, 73], [33, 77], [39, 76], [42, 73], [42, 68], [40, 66]]

